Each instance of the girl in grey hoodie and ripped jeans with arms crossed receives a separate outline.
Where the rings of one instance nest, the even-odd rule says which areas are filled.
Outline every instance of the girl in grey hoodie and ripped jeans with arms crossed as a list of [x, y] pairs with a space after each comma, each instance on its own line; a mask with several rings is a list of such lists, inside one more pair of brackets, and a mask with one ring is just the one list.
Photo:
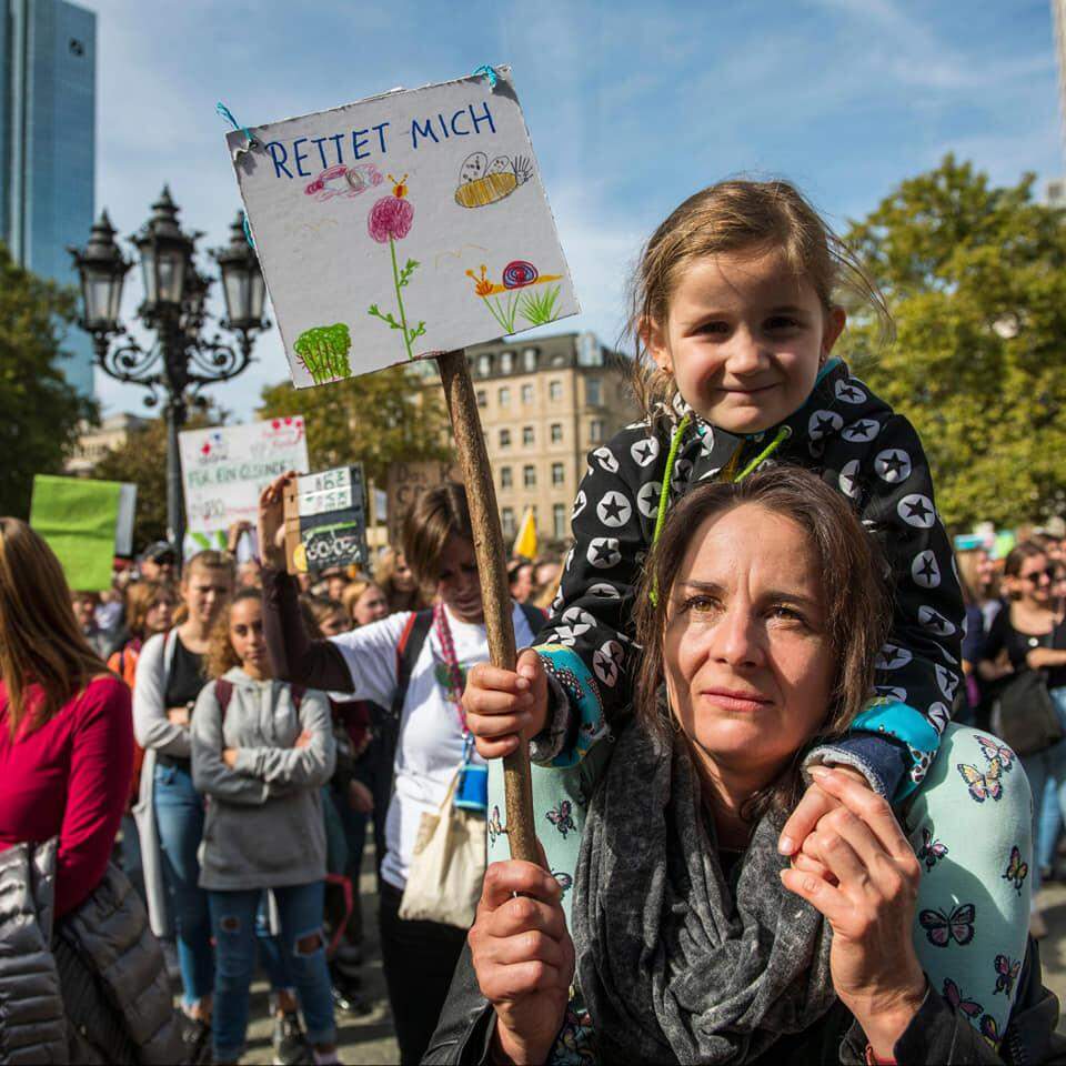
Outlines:
[[262, 615], [258, 589], [242, 590], [223, 609], [207, 656], [213, 680], [192, 724], [193, 781], [208, 796], [200, 886], [218, 951], [214, 1060], [235, 1063], [244, 1049], [257, 914], [269, 888], [314, 1060], [335, 1063], [322, 935], [321, 787], [335, 754], [329, 702], [273, 680]]

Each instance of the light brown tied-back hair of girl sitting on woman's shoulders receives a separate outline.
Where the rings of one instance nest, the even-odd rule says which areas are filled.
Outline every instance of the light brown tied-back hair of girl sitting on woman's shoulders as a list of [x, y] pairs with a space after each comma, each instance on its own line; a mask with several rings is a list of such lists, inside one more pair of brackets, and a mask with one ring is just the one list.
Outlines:
[[633, 388], [648, 416], [677, 393], [673, 374], [647, 351], [651, 323], [665, 326], [670, 301], [694, 260], [731, 252], [780, 251], [806, 279], [828, 311], [844, 292], [868, 304], [883, 340], [892, 318], [877, 283], [806, 198], [787, 181], [720, 181], [694, 193], [660, 224], [644, 245], [630, 285], [626, 332], [635, 350]]

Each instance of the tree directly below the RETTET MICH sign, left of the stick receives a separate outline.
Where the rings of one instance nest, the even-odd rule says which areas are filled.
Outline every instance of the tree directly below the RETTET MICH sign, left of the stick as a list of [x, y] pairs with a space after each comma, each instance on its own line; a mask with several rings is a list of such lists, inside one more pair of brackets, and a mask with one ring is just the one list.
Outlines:
[[392, 462], [451, 457], [435, 375], [426, 384], [404, 365], [314, 389], [271, 385], [258, 413], [262, 419], [302, 414], [312, 470], [360, 462], [380, 487]]

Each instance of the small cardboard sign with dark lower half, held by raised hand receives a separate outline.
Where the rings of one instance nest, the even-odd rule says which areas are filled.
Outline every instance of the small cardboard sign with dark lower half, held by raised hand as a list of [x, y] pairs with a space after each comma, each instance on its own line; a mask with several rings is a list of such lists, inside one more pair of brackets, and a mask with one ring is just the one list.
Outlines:
[[290, 574], [366, 564], [366, 499], [361, 466], [296, 477], [285, 489]]

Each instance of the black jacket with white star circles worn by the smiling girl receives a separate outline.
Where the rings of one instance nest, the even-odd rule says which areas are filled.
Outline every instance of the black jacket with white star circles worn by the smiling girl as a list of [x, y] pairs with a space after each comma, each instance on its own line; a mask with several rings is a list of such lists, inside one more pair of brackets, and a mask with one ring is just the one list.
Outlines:
[[[677, 422], [664, 414], [654, 423], [628, 425], [590, 453], [573, 509], [574, 546], [537, 635], [539, 645], [567, 645], [593, 673], [609, 725], [632, 696], [635, 585], [652, 543]], [[806, 404], [783, 424], [791, 436], [768, 462], [803, 466], [843, 493], [891, 564], [895, 605], [878, 657], [877, 693], [914, 707], [939, 733], [959, 682], [964, 609], [917, 433], [843, 362], [823, 374]], [[737, 449], [735, 469], [742, 470], [778, 430], [743, 439], [693, 416], [673, 464], [671, 502], [697, 481], [715, 477]], [[919, 780], [924, 770], [912, 767], [912, 777]]]

